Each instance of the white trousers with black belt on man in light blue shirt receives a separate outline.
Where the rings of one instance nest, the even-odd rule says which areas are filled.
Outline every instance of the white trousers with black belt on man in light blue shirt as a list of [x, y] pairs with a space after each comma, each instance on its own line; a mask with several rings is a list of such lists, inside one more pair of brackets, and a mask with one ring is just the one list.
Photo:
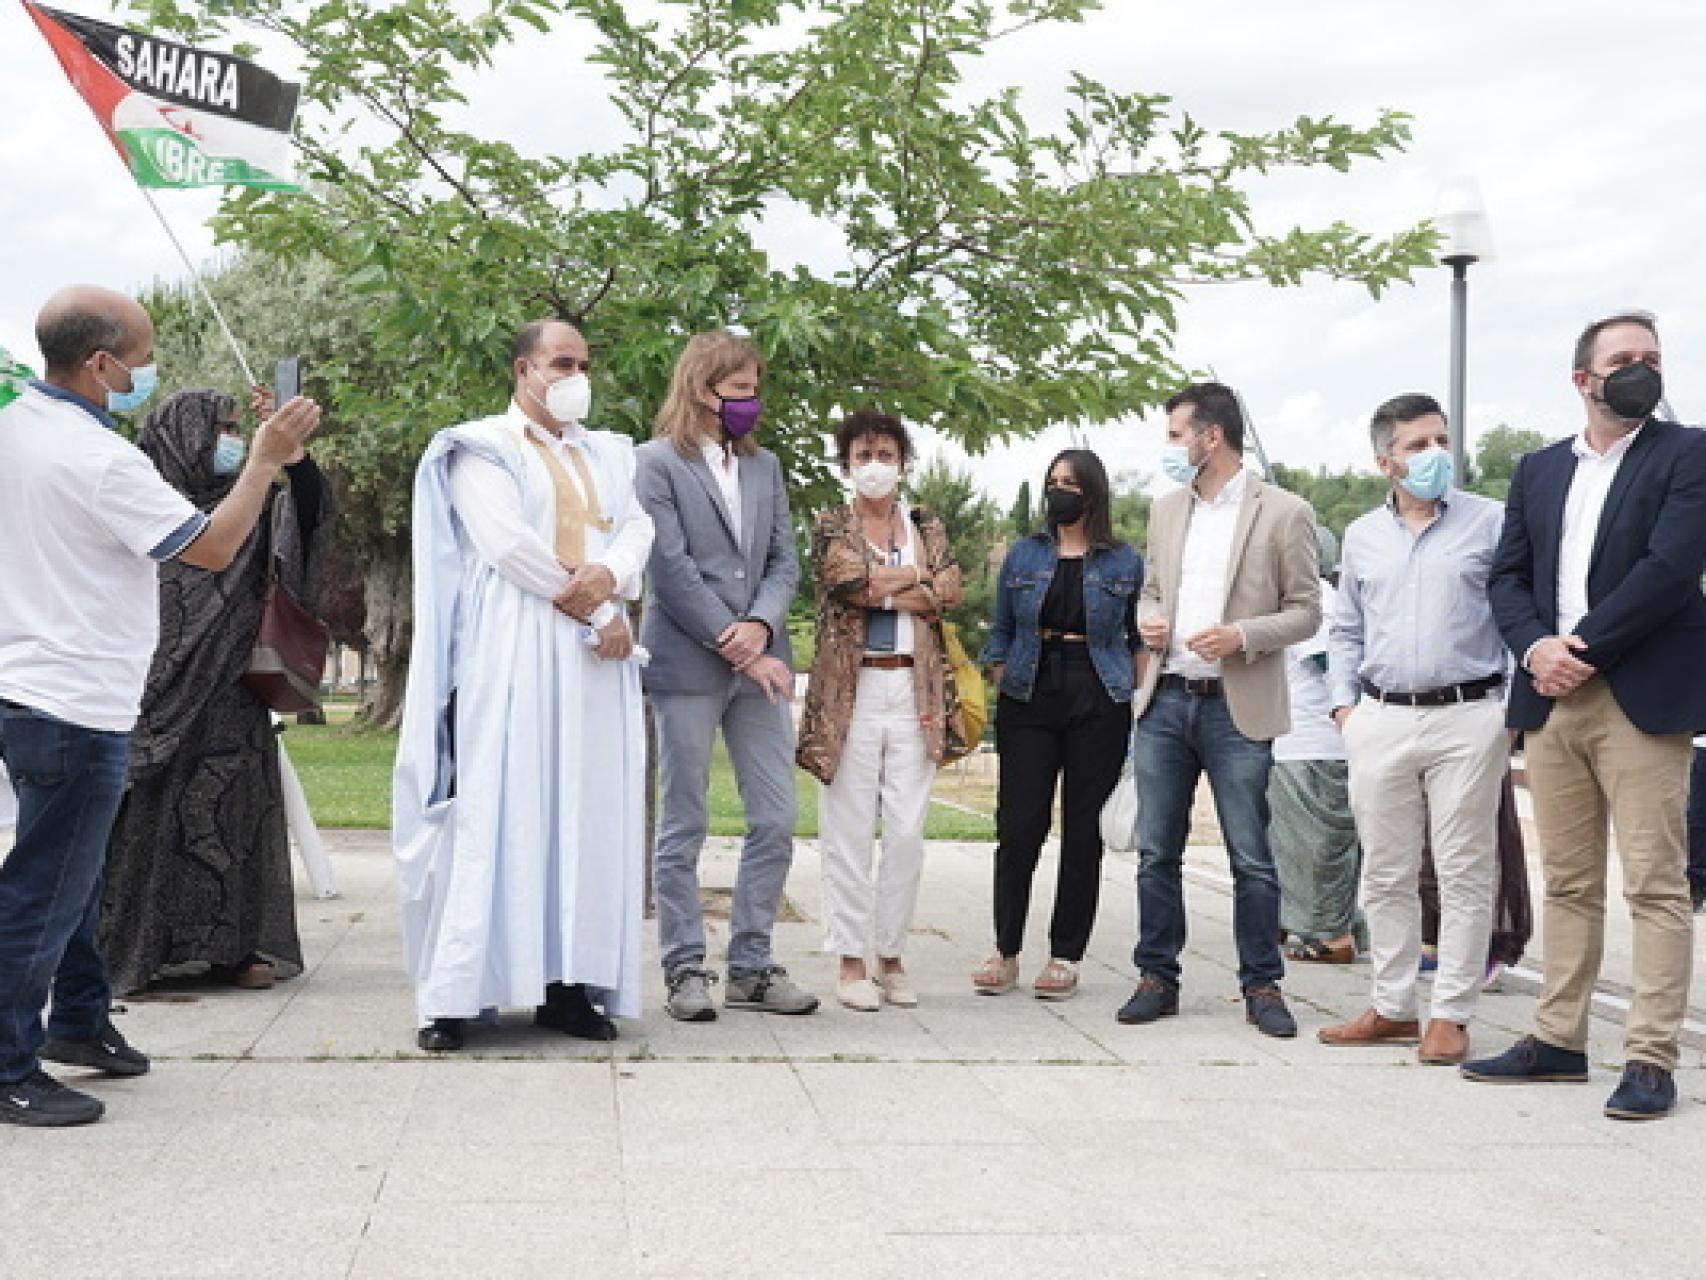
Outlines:
[[1433, 1017], [1467, 1026], [1481, 997], [1498, 881], [1498, 799], [1510, 748], [1498, 698], [1447, 707], [1363, 700], [1344, 722], [1351, 812], [1363, 841], [1373, 1007], [1418, 1015], [1423, 841], [1440, 881]]

